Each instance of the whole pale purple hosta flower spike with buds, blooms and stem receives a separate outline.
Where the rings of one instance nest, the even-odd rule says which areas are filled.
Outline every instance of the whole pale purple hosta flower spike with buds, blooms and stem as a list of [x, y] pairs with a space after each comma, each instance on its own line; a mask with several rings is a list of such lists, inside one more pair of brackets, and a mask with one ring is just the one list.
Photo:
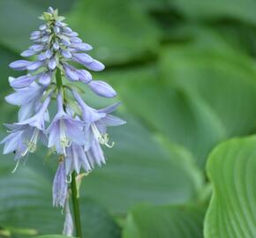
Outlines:
[[[33, 60], [10, 63], [11, 69], [27, 73], [9, 78], [15, 92], [5, 99], [19, 106], [19, 120], [5, 124], [9, 135], [1, 143], [4, 153], [15, 153], [14, 171], [20, 160], [36, 152], [39, 143], [56, 152], [58, 167], [52, 188], [53, 205], [65, 211], [63, 233], [72, 236], [74, 220], [77, 236], [82, 237], [77, 175], [82, 169], [88, 173], [95, 165], [105, 164], [102, 145], [109, 148], [114, 145], [109, 142], [107, 127], [125, 122], [110, 115], [119, 103], [102, 109], [91, 108], [83, 100], [79, 87], [74, 85], [81, 82], [105, 98], [117, 95], [106, 82], [93, 80], [89, 71], [102, 71], [104, 65], [87, 54], [92, 46], [64, 23], [64, 17], [58, 16], [57, 10], [49, 7], [40, 19], [44, 23], [30, 37], [34, 44], [21, 53]], [[74, 64], [82, 67], [78, 69]], [[50, 119], [48, 108], [53, 100], [56, 100], [56, 114]], [[74, 219], [69, 197], [72, 197]]]

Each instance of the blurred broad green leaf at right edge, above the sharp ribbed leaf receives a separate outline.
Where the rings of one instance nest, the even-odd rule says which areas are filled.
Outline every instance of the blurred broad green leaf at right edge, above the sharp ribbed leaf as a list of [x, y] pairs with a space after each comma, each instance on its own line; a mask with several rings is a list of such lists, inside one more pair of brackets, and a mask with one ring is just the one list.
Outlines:
[[189, 44], [164, 49], [162, 72], [170, 86], [199, 96], [227, 137], [255, 129], [256, 66], [251, 58], [224, 45]]

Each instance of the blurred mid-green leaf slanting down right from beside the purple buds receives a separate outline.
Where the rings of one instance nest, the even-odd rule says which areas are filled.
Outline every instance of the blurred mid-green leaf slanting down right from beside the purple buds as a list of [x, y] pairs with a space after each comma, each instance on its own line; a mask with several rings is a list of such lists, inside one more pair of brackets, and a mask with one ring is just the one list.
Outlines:
[[156, 133], [184, 145], [203, 166], [207, 152], [225, 136], [222, 123], [205, 101], [161, 76], [154, 65], [106, 74], [132, 113]]

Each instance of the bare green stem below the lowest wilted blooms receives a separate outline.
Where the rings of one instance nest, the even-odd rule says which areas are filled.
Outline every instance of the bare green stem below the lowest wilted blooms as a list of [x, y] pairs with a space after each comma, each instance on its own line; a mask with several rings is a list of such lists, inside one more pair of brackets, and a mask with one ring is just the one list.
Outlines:
[[72, 173], [72, 206], [73, 206], [73, 214], [74, 214], [74, 222], [76, 227], [76, 236], [82, 238], [82, 227], [81, 227], [81, 219], [80, 219], [80, 210], [79, 210], [79, 197], [78, 197], [78, 188], [76, 182], [76, 174]]

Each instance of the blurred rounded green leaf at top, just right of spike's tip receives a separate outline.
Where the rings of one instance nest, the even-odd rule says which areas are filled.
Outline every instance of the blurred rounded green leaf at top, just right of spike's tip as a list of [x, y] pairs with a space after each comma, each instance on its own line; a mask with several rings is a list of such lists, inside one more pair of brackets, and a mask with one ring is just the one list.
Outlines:
[[158, 47], [154, 22], [134, 1], [80, 0], [68, 22], [105, 63], [127, 63]]

